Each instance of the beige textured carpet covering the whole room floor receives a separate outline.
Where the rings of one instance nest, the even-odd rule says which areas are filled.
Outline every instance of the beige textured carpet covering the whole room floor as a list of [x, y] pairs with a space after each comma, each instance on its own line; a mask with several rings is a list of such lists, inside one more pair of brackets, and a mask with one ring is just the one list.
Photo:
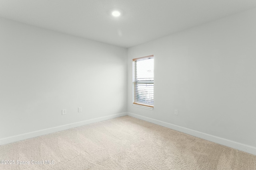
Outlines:
[[130, 116], [2, 145], [0, 160], [15, 161], [0, 170], [256, 170], [255, 155]]

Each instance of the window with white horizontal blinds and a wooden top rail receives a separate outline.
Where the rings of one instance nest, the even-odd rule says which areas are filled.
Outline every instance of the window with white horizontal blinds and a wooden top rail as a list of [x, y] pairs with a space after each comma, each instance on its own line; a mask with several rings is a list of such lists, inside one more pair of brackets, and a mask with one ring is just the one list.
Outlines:
[[154, 56], [133, 59], [133, 104], [154, 107]]

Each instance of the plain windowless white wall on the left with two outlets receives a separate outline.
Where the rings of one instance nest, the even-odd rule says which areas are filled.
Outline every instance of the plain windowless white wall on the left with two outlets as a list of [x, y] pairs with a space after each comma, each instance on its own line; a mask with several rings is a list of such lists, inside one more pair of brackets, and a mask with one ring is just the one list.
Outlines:
[[125, 48], [0, 18], [0, 139], [126, 112], [126, 57]]

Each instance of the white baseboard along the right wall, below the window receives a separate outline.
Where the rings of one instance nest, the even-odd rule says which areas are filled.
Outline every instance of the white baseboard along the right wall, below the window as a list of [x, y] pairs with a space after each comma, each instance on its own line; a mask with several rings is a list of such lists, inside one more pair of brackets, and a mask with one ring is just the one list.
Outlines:
[[231, 148], [234, 148], [234, 149], [237, 149], [237, 150], [242, 150], [244, 152], [256, 155], [256, 147], [253, 147], [253, 146], [250, 146], [250, 145], [238, 143], [238, 142], [231, 141], [231, 140], [228, 140], [228, 139], [224, 139], [224, 138], [221, 138], [221, 137], [216, 137], [216, 136], [209, 135], [209, 134], [206, 134], [206, 133], [202, 133], [202, 132], [199, 132], [199, 131], [194, 131], [192, 129], [188, 129], [188, 128], [185, 128], [185, 127], [173, 125], [171, 123], [167, 123], [167, 122], [164, 122], [164, 121], [159, 121], [159, 120], [156, 120], [156, 119], [152, 119], [152, 118], [149, 118], [149, 117], [137, 115], [137, 114], [134, 114], [134, 113], [129, 113], [128, 112], [127, 114], [129, 116], [135, 117], [137, 119], [142, 119], [142, 120], [148, 121], [150, 123], [154, 123], [154, 124], [157, 124], [157, 125], [160, 125], [160, 126], [163, 126], [163, 127], [167, 127], [167, 128], [170, 128], [170, 129], [174, 129], [176, 131], [186, 133], [188, 135], [199, 137], [199, 138], [205, 139], [207, 141], [211, 141], [211, 142], [214, 142], [214, 143], [218, 143], [218, 144], [221, 144], [221, 145], [225, 145], [227, 147], [231, 147]]

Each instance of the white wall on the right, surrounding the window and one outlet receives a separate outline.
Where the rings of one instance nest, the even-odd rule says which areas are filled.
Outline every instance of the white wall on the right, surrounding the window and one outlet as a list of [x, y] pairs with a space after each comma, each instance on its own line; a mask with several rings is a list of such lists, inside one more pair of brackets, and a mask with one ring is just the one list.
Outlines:
[[[254, 8], [129, 48], [128, 112], [256, 149], [255, 16]], [[148, 55], [153, 111], [132, 106], [132, 59]]]

